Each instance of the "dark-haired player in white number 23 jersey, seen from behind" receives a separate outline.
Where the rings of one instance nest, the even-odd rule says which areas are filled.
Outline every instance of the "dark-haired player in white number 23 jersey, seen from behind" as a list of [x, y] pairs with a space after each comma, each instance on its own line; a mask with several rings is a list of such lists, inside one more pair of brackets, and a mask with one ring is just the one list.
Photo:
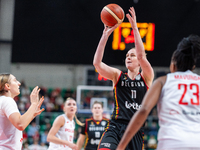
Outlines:
[[193, 73], [200, 56], [200, 38], [183, 38], [173, 53], [171, 73], [155, 80], [142, 107], [132, 117], [117, 150], [124, 150], [157, 104], [157, 150], [200, 149], [200, 76]]

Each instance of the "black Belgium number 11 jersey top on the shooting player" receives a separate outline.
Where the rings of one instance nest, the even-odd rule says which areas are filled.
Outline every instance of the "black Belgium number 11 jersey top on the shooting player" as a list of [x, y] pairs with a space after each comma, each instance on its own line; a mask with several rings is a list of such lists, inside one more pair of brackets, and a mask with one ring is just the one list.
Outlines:
[[115, 108], [112, 113], [112, 120], [128, 123], [134, 113], [140, 109], [147, 90], [148, 86], [140, 73], [135, 79], [131, 80], [127, 73], [121, 72], [113, 89]]

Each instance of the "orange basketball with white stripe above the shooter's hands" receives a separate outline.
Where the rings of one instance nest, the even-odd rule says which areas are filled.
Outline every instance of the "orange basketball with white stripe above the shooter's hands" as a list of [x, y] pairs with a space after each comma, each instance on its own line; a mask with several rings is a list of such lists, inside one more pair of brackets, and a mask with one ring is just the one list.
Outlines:
[[124, 20], [124, 10], [117, 4], [108, 4], [101, 11], [101, 21], [109, 27]]

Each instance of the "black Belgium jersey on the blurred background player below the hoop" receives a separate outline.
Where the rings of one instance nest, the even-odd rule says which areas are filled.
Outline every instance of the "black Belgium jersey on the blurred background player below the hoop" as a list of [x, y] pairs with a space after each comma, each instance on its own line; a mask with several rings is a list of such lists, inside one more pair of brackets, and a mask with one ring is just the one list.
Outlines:
[[85, 125], [81, 129], [81, 134], [86, 135], [84, 150], [97, 149], [107, 123], [107, 118], [103, 118], [101, 121], [96, 121], [93, 117], [85, 120]]

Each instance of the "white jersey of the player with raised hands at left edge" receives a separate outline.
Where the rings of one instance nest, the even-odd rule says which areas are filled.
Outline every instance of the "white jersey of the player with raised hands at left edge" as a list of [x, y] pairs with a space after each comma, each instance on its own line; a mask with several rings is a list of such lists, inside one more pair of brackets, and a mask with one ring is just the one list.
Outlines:
[[0, 96], [0, 150], [21, 150], [22, 131], [9, 120], [10, 115], [16, 112], [19, 113], [15, 100]]

